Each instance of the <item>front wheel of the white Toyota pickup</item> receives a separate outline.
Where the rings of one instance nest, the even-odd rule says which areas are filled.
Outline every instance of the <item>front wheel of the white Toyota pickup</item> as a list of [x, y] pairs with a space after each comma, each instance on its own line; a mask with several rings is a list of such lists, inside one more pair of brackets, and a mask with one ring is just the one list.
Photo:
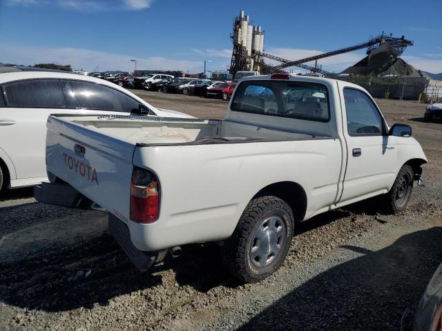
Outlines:
[[384, 203], [387, 212], [396, 214], [407, 208], [412, 195], [414, 171], [410, 165], [403, 165], [390, 191], [385, 194]]

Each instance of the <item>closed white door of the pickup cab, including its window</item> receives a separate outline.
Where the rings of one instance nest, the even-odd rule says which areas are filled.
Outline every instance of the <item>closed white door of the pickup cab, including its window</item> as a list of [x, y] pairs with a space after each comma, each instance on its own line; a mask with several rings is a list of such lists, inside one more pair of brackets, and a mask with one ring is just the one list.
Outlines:
[[363, 90], [340, 89], [347, 169], [337, 205], [386, 193], [396, 177], [396, 143], [376, 103]]

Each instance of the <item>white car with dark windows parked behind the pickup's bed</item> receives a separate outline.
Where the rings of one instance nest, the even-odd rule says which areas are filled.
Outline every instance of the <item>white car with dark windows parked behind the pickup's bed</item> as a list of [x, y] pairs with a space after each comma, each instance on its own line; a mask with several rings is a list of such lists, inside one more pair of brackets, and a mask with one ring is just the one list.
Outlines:
[[[0, 74], [0, 190], [48, 181], [45, 164], [49, 114], [146, 113], [189, 117], [158, 110], [114, 83], [58, 72]], [[107, 112], [108, 111], [108, 112]]]

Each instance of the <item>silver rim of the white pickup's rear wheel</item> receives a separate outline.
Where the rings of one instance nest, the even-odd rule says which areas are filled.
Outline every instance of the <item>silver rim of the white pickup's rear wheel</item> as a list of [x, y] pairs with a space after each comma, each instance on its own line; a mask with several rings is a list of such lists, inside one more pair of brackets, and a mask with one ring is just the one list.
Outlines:
[[286, 234], [285, 222], [280, 217], [272, 216], [262, 221], [251, 241], [251, 262], [257, 267], [269, 265], [278, 256]]

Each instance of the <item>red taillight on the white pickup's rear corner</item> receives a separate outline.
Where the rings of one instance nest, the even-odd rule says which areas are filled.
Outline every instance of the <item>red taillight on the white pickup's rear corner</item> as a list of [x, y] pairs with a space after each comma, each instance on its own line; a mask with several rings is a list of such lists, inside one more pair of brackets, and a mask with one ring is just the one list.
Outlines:
[[160, 211], [160, 185], [152, 172], [133, 167], [131, 180], [131, 220], [153, 223]]

